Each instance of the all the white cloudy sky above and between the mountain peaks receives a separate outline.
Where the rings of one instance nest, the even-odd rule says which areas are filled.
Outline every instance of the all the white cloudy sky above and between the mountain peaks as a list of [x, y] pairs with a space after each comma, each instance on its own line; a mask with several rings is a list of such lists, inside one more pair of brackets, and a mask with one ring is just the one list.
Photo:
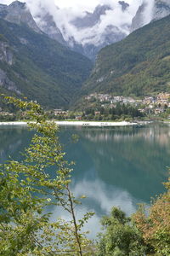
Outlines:
[[[101, 38], [104, 38], [105, 30], [108, 26], [116, 26], [121, 32], [128, 34], [128, 26], [131, 25], [133, 16], [136, 14], [139, 5], [143, 1], [153, 3], [154, 0], [125, 0], [126, 3], [130, 4], [130, 7], [126, 12], [122, 11], [121, 5], [118, 3], [119, 0], [20, 0], [20, 2], [26, 2], [31, 14], [38, 22], [42, 22], [41, 19], [37, 18], [41, 14], [41, 8], [48, 10], [48, 13], [54, 17], [56, 26], [62, 32], [66, 41], [70, 38], [74, 38], [77, 43], [80, 44], [101, 44]], [[11, 0], [0, 0], [0, 3], [9, 4]], [[97, 5], [107, 4], [111, 6], [111, 10], [106, 11], [105, 15], [100, 18], [99, 24], [88, 28], [88, 29], [77, 29], [71, 23], [77, 17], [83, 17], [86, 15], [85, 11], [94, 12]], [[59, 7], [59, 9], [56, 8]], [[40, 8], [41, 7], [41, 8]], [[147, 22], [150, 21], [150, 12], [145, 15]], [[104, 39], [105, 40], [105, 39]]]

